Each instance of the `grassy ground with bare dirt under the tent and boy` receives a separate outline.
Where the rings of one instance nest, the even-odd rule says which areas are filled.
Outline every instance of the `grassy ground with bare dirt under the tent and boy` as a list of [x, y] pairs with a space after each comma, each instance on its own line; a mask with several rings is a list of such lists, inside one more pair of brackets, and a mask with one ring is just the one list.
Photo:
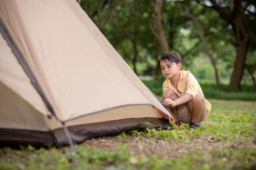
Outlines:
[[69, 147], [1, 148], [0, 169], [256, 169], [256, 102], [209, 100], [201, 129], [147, 129]]

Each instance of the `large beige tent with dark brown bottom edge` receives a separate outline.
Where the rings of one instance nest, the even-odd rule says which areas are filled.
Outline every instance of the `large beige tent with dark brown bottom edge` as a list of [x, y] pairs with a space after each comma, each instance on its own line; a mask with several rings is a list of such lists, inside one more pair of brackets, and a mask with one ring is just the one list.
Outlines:
[[[0, 144], [68, 145], [171, 117], [76, 1], [0, 1]], [[172, 117], [171, 117], [172, 118]]]

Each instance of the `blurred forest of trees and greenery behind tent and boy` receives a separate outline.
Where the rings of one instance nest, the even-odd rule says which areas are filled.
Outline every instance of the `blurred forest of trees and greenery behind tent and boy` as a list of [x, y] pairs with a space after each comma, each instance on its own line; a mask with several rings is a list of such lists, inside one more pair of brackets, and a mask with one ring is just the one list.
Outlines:
[[157, 59], [175, 50], [206, 97], [256, 100], [255, 0], [77, 2], [158, 96], [164, 77]]

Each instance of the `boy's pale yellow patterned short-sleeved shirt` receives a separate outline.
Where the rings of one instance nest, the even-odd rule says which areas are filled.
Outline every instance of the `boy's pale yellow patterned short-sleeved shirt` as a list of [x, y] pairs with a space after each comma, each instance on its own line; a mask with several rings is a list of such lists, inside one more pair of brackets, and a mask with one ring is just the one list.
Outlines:
[[[180, 80], [177, 85], [177, 89], [175, 89], [172, 85], [172, 82], [169, 78], [167, 78], [163, 83], [163, 92], [167, 89], [172, 89], [177, 96], [182, 96], [182, 94], [188, 93], [193, 99], [195, 98], [198, 91], [204, 96], [204, 93], [196, 80], [195, 76], [190, 71], [180, 71]], [[180, 94], [182, 92], [182, 94]], [[211, 111], [211, 103], [205, 99], [205, 106], [207, 109], [207, 117]]]

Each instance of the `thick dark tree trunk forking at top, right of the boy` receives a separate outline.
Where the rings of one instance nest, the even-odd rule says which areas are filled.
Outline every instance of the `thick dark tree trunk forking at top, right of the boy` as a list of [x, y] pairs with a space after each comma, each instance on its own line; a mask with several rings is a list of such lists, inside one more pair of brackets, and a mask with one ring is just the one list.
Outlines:
[[239, 89], [241, 87], [241, 79], [245, 67], [248, 43], [250, 39], [255, 39], [249, 25], [244, 21], [243, 12], [246, 11], [246, 8], [252, 3], [255, 3], [255, 1], [236, 0], [230, 1], [230, 3], [225, 3], [223, 1], [217, 2], [215, 0], [210, 0], [211, 5], [207, 5], [207, 1], [196, 1], [207, 8], [216, 10], [221, 18], [232, 26], [235, 36], [234, 46], [236, 47], [236, 60], [228, 89]]

